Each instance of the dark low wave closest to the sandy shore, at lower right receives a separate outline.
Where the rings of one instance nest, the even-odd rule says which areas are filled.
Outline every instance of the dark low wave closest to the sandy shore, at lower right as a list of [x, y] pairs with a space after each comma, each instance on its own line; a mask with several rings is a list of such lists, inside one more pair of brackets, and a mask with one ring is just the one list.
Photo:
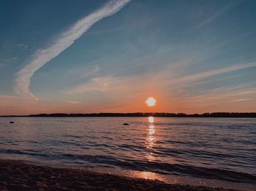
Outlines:
[[231, 182], [256, 183], [256, 176], [237, 171], [228, 171], [218, 168], [203, 168], [190, 165], [168, 164], [158, 162], [141, 162], [135, 160], [118, 160], [116, 157], [105, 155], [72, 155], [64, 154], [72, 160], [85, 160], [87, 163], [101, 163], [105, 165], [115, 165], [138, 171], [152, 171], [162, 174], [176, 174], [184, 176], [195, 176], [198, 178], [221, 179]]

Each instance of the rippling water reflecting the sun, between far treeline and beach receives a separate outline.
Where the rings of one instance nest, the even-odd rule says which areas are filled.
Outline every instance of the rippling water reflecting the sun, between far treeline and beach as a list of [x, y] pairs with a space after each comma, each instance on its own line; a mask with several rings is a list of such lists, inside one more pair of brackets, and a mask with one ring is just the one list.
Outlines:
[[256, 119], [1, 117], [0, 157], [256, 184]]

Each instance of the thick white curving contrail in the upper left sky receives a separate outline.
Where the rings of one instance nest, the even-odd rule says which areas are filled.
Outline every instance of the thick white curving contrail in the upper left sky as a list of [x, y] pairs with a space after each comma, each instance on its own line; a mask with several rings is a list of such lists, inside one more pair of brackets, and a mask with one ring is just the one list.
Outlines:
[[29, 59], [26, 59], [26, 66], [17, 72], [15, 78], [15, 90], [18, 94], [29, 96], [38, 100], [38, 98], [33, 95], [29, 90], [30, 79], [34, 75], [34, 72], [40, 69], [45, 63], [55, 58], [61, 52], [66, 50], [70, 45], [72, 45], [76, 39], [79, 39], [86, 31], [105, 17], [114, 15], [122, 7], [132, 0], [111, 0], [103, 7], [100, 7], [96, 11], [92, 12], [90, 15], [83, 17], [78, 20], [71, 28], [64, 31], [56, 39], [53, 44], [45, 49], [37, 50]]

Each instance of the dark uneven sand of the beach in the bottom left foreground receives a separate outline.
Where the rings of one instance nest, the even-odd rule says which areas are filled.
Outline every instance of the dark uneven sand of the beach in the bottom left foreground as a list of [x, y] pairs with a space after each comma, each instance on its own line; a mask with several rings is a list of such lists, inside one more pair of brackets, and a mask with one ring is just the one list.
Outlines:
[[227, 190], [0, 160], [0, 190]]

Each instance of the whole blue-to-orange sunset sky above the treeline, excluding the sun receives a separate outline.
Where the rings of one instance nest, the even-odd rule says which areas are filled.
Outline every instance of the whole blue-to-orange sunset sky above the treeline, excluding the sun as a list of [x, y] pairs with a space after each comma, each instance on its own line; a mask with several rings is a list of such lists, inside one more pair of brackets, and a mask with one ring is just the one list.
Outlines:
[[0, 0], [0, 114], [256, 112], [255, 9]]

